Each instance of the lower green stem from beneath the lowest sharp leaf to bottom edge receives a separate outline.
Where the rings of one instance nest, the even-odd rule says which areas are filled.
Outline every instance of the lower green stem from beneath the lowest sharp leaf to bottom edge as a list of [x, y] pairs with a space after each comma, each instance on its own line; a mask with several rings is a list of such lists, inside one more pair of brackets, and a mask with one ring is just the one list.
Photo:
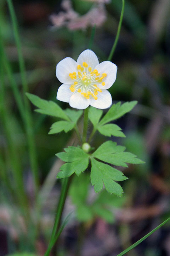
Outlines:
[[66, 202], [66, 197], [67, 197], [67, 193], [68, 193], [68, 189], [69, 189], [69, 185], [70, 185], [72, 176], [70, 176], [69, 178], [65, 178], [63, 181], [60, 199], [59, 199], [58, 206], [57, 206], [55, 222], [54, 222], [53, 229], [52, 229], [51, 239], [50, 239], [49, 246], [48, 246], [47, 251], [44, 256], [50, 255], [50, 252], [51, 252], [51, 249], [53, 246], [53, 241], [56, 240], [56, 232], [60, 228], [61, 216], [62, 216], [64, 204]]

